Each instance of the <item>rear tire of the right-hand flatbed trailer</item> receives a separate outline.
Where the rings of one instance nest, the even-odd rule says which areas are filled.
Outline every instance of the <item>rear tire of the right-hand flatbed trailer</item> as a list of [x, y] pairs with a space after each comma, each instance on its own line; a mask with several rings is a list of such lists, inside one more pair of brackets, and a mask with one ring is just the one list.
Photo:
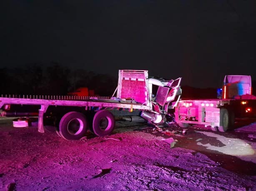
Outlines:
[[220, 132], [226, 132], [228, 128], [233, 127], [234, 121], [233, 111], [228, 110], [227, 108], [220, 109], [220, 126], [218, 127]]

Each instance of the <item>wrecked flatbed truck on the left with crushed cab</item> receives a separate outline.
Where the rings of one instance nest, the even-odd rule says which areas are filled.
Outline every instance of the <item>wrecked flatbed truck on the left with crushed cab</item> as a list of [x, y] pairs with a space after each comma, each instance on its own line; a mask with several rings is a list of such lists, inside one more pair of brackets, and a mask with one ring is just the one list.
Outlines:
[[[140, 116], [153, 125], [173, 119], [172, 110], [181, 98], [180, 83], [181, 78], [149, 78], [147, 70], [119, 70], [118, 86], [110, 99], [2, 95], [0, 108], [8, 104], [39, 105], [39, 132], [44, 132], [44, 114], [50, 110], [51, 115], [58, 118], [58, 135], [66, 140], [79, 140], [89, 129], [98, 136], [109, 135], [115, 127], [115, 118], [110, 112], [113, 109], [139, 110]], [[156, 96], [153, 86], [157, 87]]]

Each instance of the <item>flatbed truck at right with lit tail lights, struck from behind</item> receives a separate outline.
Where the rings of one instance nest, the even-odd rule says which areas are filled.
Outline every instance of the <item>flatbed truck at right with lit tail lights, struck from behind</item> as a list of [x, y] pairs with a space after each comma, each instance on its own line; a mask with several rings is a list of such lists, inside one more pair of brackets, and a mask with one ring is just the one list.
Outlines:
[[199, 124], [213, 131], [226, 132], [235, 118], [256, 119], [256, 96], [252, 95], [251, 76], [224, 77], [220, 99], [180, 100], [175, 109], [175, 120], [180, 127]]

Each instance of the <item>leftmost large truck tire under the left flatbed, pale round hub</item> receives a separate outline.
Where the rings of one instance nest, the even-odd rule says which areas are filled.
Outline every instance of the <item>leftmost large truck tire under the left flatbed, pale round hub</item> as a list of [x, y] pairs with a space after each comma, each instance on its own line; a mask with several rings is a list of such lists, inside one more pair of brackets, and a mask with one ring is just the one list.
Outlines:
[[60, 120], [60, 136], [66, 140], [79, 140], [87, 132], [88, 122], [79, 112], [68, 112]]

